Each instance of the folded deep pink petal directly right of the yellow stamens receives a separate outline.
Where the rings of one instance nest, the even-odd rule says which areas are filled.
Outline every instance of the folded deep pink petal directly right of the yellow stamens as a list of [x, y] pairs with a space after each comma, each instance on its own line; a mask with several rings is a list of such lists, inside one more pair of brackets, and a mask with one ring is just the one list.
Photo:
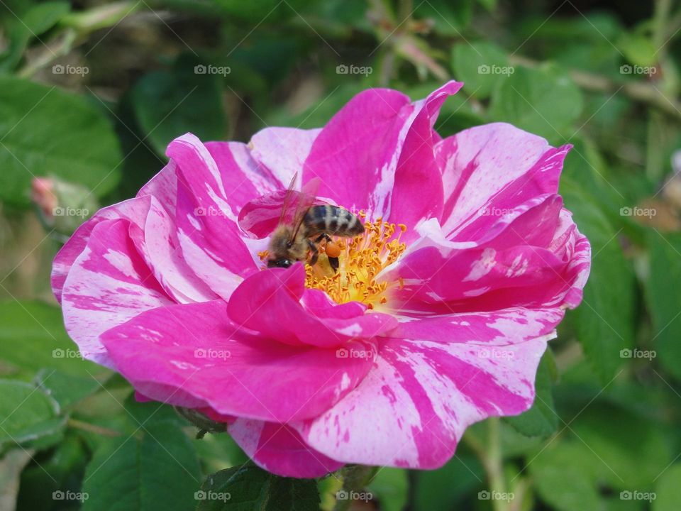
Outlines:
[[561, 220], [561, 204], [557, 195], [536, 197], [498, 219], [480, 242], [448, 241], [435, 219], [423, 223], [423, 238], [383, 276], [402, 282], [393, 307], [448, 314], [562, 304], [584, 285], [589, 248], [577, 246], [581, 235], [569, 216]]

